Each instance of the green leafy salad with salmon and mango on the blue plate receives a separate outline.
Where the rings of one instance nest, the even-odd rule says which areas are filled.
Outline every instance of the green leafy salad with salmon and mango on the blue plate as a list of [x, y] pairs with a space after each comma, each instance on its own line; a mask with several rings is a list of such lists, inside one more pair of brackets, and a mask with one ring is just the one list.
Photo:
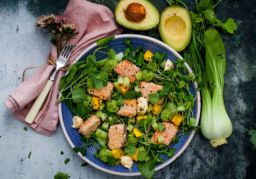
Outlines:
[[[159, 155], [172, 157], [175, 149], [169, 145], [177, 144], [178, 137], [192, 128], [200, 128], [192, 113], [197, 96], [189, 91], [200, 76], [185, 75], [185, 60], [171, 61], [165, 53], [134, 49], [129, 39], [124, 41], [125, 52], [116, 54], [107, 45], [113, 38], [97, 41], [93, 54], [70, 67], [60, 80], [58, 103], [65, 101], [76, 117], [72, 127], [83, 134], [84, 144], [75, 152], [85, 156], [84, 146], [95, 145], [97, 150], [91, 148], [102, 162], [131, 168], [136, 161], [149, 179], [156, 164], [164, 162]], [[97, 61], [96, 53], [106, 53], [108, 58]]]

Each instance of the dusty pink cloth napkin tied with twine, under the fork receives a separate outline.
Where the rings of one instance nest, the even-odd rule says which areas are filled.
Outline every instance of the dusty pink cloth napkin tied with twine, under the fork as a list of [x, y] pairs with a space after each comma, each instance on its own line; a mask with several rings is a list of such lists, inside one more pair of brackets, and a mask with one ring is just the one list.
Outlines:
[[[79, 31], [75, 39], [70, 40], [72, 44], [76, 45], [70, 57], [72, 61], [97, 40], [122, 32], [122, 29], [115, 22], [114, 14], [106, 6], [85, 0], [70, 0], [63, 15], [68, 17], [70, 22], [76, 23]], [[51, 53], [57, 59], [56, 46], [52, 46]], [[43, 89], [53, 69], [54, 66], [52, 65], [39, 69], [10, 93], [8, 99], [3, 103], [14, 116], [25, 122], [24, 119], [29, 109]], [[27, 123], [35, 131], [47, 136], [51, 136], [58, 125], [59, 81], [64, 74], [64, 71], [59, 70], [43, 108], [32, 124]]]

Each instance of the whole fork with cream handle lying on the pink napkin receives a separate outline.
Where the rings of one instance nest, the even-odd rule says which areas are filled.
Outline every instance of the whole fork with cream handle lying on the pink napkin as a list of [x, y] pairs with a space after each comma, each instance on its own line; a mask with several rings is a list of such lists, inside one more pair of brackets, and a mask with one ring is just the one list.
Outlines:
[[[52, 84], [54, 82], [57, 71], [66, 65], [66, 63], [69, 59], [69, 56], [72, 53], [73, 48], [74, 48], [74, 45], [72, 45], [72, 44], [70, 45], [70, 43], [68, 44], [68, 46], [66, 43], [65, 46], [63, 47], [63, 50], [61, 51], [60, 56], [58, 57], [58, 59], [56, 61], [55, 71], [53, 72], [51, 77], [46, 81], [43, 90], [37, 96], [33, 106], [31, 107], [27, 116], [25, 117], [25, 121], [27, 123], [32, 124], [33, 121], [35, 120], [37, 113], [39, 112], [44, 100], [46, 99], [46, 97], [52, 87]], [[65, 49], [65, 51], [64, 51], [64, 49]]]

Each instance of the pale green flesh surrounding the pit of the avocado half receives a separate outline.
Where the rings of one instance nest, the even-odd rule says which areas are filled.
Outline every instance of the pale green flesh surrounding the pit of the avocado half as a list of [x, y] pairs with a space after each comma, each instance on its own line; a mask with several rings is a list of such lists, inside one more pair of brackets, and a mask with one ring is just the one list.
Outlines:
[[[131, 3], [139, 3], [145, 8], [145, 18], [142, 18], [143, 20], [140, 22], [132, 22], [128, 20], [125, 15], [125, 10]], [[133, 12], [138, 12], [139, 10], [140, 9], [132, 8], [130, 11], [131, 16], [133, 15]], [[159, 23], [160, 17], [156, 7], [147, 0], [120, 0], [116, 5], [115, 16], [118, 24], [134, 30], [152, 29]]]

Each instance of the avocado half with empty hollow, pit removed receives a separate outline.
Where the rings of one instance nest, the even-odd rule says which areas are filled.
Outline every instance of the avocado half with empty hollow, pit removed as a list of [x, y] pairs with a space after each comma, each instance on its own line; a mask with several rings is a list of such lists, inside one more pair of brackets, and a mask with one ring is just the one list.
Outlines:
[[177, 52], [184, 50], [192, 36], [192, 20], [187, 9], [169, 6], [163, 10], [158, 25], [164, 43]]

